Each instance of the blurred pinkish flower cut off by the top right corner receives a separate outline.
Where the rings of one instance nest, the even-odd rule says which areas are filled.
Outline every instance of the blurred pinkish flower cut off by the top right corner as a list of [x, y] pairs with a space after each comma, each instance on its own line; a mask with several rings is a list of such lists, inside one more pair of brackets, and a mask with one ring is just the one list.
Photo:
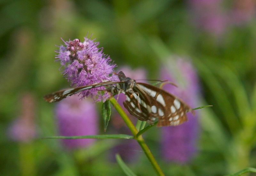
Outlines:
[[236, 0], [234, 1], [234, 8], [230, 14], [230, 20], [235, 25], [243, 25], [255, 18], [255, 15], [255, 0]]

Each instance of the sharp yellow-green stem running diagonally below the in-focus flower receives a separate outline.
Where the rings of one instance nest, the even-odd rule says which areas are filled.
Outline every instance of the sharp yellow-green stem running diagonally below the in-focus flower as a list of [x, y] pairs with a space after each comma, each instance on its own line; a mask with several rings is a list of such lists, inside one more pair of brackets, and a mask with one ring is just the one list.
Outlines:
[[142, 138], [142, 136], [140, 135], [140, 136], [136, 137], [136, 135], [138, 134], [138, 130], [132, 124], [132, 122], [129, 119], [129, 117], [125, 114], [125, 112], [122, 109], [122, 107], [117, 103], [116, 99], [114, 99], [114, 98], [111, 98], [110, 102], [115, 107], [116, 111], [120, 114], [120, 116], [123, 118], [123, 120], [124, 120], [125, 124], [127, 125], [127, 127], [131, 130], [131, 132], [132, 132], [132, 134], [134, 136], [134, 139], [136, 139], [138, 141], [138, 143], [140, 144], [140, 147], [142, 148], [142, 150], [144, 151], [144, 153], [148, 157], [148, 160], [152, 164], [152, 166], [155, 169], [156, 173], [158, 175], [164, 175], [164, 172], [161, 170], [161, 168], [157, 164], [156, 159], [154, 158], [153, 154], [149, 150], [149, 148], [148, 148], [147, 144], [145, 143], [144, 139]]

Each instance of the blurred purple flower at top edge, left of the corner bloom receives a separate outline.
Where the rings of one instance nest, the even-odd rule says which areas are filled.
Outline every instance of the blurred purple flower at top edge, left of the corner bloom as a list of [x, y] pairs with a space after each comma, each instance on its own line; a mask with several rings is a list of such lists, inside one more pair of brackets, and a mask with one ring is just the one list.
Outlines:
[[189, 0], [192, 17], [198, 28], [215, 36], [221, 36], [228, 22], [220, 0]]

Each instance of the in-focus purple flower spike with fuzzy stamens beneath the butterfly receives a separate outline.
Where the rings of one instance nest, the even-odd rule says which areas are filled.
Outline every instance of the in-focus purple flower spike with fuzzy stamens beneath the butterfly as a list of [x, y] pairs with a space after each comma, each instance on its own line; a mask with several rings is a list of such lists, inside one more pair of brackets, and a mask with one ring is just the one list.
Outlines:
[[[110, 57], [104, 55], [103, 48], [98, 48], [99, 42], [84, 38], [64, 42], [66, 46], [60, 46], [57, 51], [57, 61], [64, 67], [62, 74], [71, 82], [71, 86], [85, 86], [103, 81], [118, 81], [116, 75], [112, 75], [115, 64], [111, 64]], [[81, 92], [84, 97], [92, 97], [95, 101], [105, 101], [109, 98], [107, 92], [102, 93], [104, 87], [98, 87]]]

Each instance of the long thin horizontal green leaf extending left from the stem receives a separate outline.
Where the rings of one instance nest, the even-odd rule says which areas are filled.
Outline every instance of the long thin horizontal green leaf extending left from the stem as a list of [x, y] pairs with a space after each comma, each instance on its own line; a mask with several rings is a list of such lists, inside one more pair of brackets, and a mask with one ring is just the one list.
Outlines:
[[127, 134], [104, 134], [91, 136], [50, 136], [43, 139], [133, 139], [133, 136]]

